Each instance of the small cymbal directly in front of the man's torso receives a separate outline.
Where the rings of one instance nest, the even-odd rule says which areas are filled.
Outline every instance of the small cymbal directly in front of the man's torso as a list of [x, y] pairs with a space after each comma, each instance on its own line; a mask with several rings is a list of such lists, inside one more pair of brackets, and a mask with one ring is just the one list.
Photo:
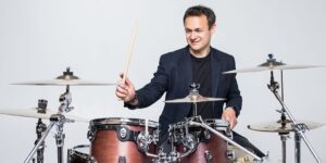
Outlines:
[[193, 103], [193, 102], [209, 102], [209, 101], [224, 101], [223, 98], [210, 98], [203, 97], [201, 95], [197, 95], [196, 98], [193, 96], [187, 96], [181, 99], [166, 100], [165, 103]]

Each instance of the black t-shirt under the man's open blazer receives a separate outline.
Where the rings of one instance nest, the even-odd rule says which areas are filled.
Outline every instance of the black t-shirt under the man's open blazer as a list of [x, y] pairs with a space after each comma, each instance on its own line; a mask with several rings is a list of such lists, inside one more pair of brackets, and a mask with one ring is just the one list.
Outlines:
[[[190, 54], [190, 52], [189, 52]], [[212, 62], [211, 53], [205, 58], [196, 58], [191, 55], [191, 67], [192, 67], [192, 83], [200, 84], [199, 93], [203, 97], [212, 97]], [[188, 116], [193, 116], [191, 110]], [[212, 118], [214, 114], [212, 102], [199, 102], [197, 103], [197, 114], [201, 115], [202, 118]]]

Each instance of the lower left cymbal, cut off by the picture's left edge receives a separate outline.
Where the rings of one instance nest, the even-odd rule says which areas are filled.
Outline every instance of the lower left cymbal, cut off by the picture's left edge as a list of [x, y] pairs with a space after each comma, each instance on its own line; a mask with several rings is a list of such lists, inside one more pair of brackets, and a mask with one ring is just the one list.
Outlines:
[[[40, 113], [39, 108], [32, 108], [32, 109], [7, 109], [0, 110], [0, 114], [4, 115], [13, 115], [13, 116], [22, 116], [22, 117], [36, 117], [36, 118], [50, 118], [52, 114], [57, 114], [58, 112], [48, 110], [46, 113]], [[85, 117], [79, 117], [76, 115], [72, 115], [70, 113], [63, 114], [65, 118], [68, 120], [68, 122], [86, 122], [88, 123], [89, 121]]]

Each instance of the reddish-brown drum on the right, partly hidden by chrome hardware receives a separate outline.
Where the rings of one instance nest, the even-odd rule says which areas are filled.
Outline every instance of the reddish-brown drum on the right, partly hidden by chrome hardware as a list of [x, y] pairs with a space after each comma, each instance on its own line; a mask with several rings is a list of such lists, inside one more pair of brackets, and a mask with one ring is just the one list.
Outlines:
[[[176, 145], [177, 152], [181, 155], [184, 154], [180, 162], [229, 162], [226, 155], [227, 142], [205, 128], [191, 126], [190, 121], [193, 121], [193, 117], [170, 126], [172, 140]], [[205, 120], [204, 123], [217, 131], [231, 137], [228, 122], [210, 118]]]

